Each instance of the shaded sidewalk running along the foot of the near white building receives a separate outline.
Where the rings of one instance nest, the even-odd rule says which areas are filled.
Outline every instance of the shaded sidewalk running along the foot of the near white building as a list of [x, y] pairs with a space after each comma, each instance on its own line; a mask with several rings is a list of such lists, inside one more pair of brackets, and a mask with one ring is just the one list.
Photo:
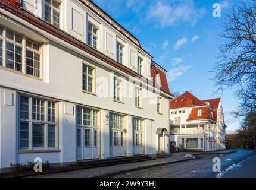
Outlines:
[[[211, 152], [211, 154], [224, 154], [232, 153], [233, 151], [217, 151]], [[199, 154], [208, 154], [207, 153], [198, 153], [198, 152], [189, 152], [189, 154], [199, 155]], [[141, 170], [150, 167], [164, 166], [167, 164], [186, 162], [189, 160], [194, 160], [191, 158], [183, 157], [186, 153], [171, 153], [170, 157], [163, 159], [148, 160], [144, 162], [135, 162], [135, 163], [126, 163], [118, 164], [115, 166], [104, 166], [104, 167], [94, 167], [90, 169], [81, 169], [74, 170], [69, 172], [59, 172], [59, 173], [49, 173], [45, 175], [36, 175], [29, 176], [27, 178], [105, 178], [109, 175], [117, 175], [124, 172], [131, 172], [134, 170]]]

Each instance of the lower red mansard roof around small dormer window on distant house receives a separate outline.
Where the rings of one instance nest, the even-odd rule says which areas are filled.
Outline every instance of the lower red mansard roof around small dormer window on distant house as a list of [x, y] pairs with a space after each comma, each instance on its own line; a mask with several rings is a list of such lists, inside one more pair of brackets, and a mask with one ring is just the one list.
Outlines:
[[[202, 109], [202, 116], [198, 116], [198, 110]], [[191, 120], [200, 120], [200, 119], [211, 119], [214, 120], [213, 111], [210, 109], [210, 107], [196, 107], [191, 110], [191, 113], [189, 114], [189, 118], [187, 121]]]

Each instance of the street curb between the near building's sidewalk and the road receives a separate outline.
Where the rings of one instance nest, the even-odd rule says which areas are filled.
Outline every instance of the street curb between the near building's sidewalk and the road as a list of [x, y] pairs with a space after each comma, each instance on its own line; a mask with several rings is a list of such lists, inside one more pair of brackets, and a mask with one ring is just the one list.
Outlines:
[[198, 160], [198, 159], [174, 160], [174, 161], [171, 161], [171, 162], [164, 162], [164, 163], [160, 163], [160, 164], [153, 164], [153, 165], [148, 165], [148, 166], [139, 166], [139, 167], [135, 167], [135, 168], [132, 168], [132, 169], [121, 170], [121, 171], [111, 172], [111, 173], [105, 173], [105, 174], [102, 174], [102, 175], [95, 175], [95, 176], [90, 177], [90, 178], [107, 178], [107, 177], [122, 174], [122, 173], [134, 172], [134, 171], [149, 169], [149, 168], [158, 167], [158, 166], [166, 166], [166, 165], [169, 165], [169, 164], [188, 162], [188, 161], [191, 161], [191, 160]]

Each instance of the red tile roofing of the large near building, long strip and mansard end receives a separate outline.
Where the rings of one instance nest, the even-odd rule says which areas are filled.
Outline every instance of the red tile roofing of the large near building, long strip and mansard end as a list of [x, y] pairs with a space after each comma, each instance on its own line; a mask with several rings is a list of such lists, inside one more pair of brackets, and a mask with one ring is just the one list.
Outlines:
[[[108, 56], [104, 55], [103, 53], [99, 52], [98, 50], [92, 49], [92, 47], [86, 45], [80, 40], [75, 39], [73, 36], [71, 36], [68, 33], [65, 33], [65, 31], [57, 29], [56, 27], [52, 26], [51, 24], [48, 24], [46, 21], [41, 20], [40, 18], [36, 18], [34, 15], [29, 14], [27, 11], [24, 11], [21, 9], [20, 5], [18, 4], [18, 0], [1, 0], [0, 1], [0, 8], [5, 9], [6, 11], [10, 12], [11, 14], [16, 15], [17, 17], [20, 17], [24, 21], [27, 21], [30, 24], [33, 24], [34, 26], [38, 27], [39, 29], [42, 29], [55, 37], [58, 37], [61, 40], [64, 40], [67, 43], [70, 43], [73, 46], [76, 46], [77, 48], [85, 51], [86, 53], [89, 53], [90, 55], [95, 56], [98, 59], [101, 59], [101, 61], [106, 62], [107, 64], [110, 64], [114, 66], [115, 68], [120, 69], [123, 72], [126, 72], [129, 75], [132, 75], [133, 77], [141, 77], [141, 81], [145, 83], [149, 83], [149, 81], [142, 77], [141, 75], [137, 74], [135, 71], [132, 71], [132, 69], [127, 68], [124, 65], [119, 64], [118, 62], [114, 61], [114, 59], [108, 58]], [[152, 66], [151, 69], [157, 71], [158, 69], [155, 68], [155, 66]], [[162, 87], [161, 91], [164, 91], [164, 93], [167, 93], [168, 95], [172, 95], [170, 93], [168, 83], [166, 80], [166, 75], [159, 71], [161, 76], [161, 82]], [[150, 83], [149, 83], [150, 84]], [[153, 85], [155, 82], [153, 82]]]

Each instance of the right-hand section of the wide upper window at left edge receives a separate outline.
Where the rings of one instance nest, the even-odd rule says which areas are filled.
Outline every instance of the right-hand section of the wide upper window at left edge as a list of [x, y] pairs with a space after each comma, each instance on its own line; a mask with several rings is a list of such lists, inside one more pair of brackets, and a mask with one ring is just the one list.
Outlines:
[[26, 40], [26, 73], [40, 77], [40, 45]]

